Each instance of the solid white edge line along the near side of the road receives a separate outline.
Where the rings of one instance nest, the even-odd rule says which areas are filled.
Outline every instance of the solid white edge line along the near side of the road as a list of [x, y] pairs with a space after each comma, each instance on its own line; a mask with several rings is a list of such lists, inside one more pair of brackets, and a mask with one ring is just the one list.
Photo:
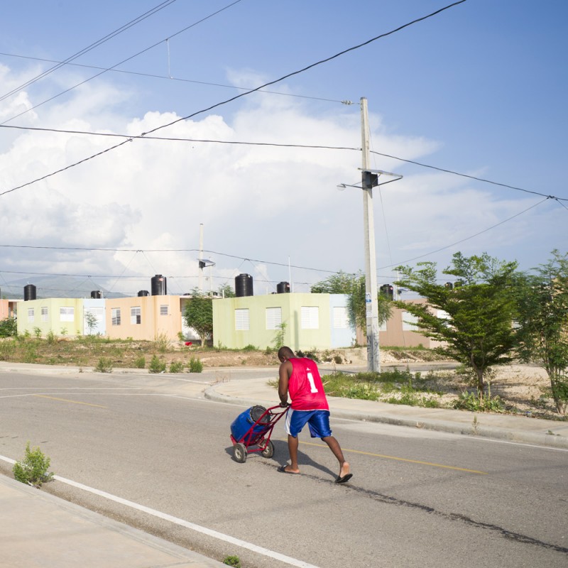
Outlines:
[[[16, 463], [15, 460], [10, 459], [9, 457], [0, 456], [0, 459], [7, 461], [9, 464]], [[225, 535], [223, 532], [218, 532], [217, 530], [212, 530], [207, 527], [202, 527], [201, 525], [196, 525], [195, 523], [190, 523], [190, 521], [188, 520], [180, 519], [178, 517], [173, 517], [172, 515], [168, 515], [167, 513], [162, 513], [159, 510], [151, 509], [149, 507], [140, 505], [138, 503], [134, 503], [133, 501], [128, 501], [127, 499], [123, 499], [116, 495], [112, 495], [111, 493], [107, 493], [106, 491], [100, 491], [99, 489], [95, 489], [94, 487], [89, 487], [87, 485], [77, 483], [77, 481], [72, 481], [71, 479], [66, 479], [65, 477], [60, 477], [58, 475], [53, 476], [53, 479], [56, 479], [57, 481], [61, 481], [64, 484], [81, 489], [82, 491], [88, 491], [89, 493], [94, 493], [94, 495], [98, 495], [99, 497], [104, 497], [106, 499], [109, 499], [109, 501], [114, 501], [115, 503], [120, 503], [121, 505], [124, 505], [126, 507], [139, 510], [142, 513], [147, 513], [148, 515], [152, 515], [153, 517], [157, 517], [163, 520], [168, 520], [170, 523], [174, 523], [175, 525], [180, 525], [181, 527], [195, 530], [195, 532], [201, 532], [202, 535], [207, 535], [209, 537], [217, 538], [218, 540], [222, 540], [223, 542], [228, 542], [231, 545], [239, 546], [241, 548], [246, 548], [246, 550], [251, 550], [252, 552], [256, 552], [259, 555], [263, 555], [268, 558], [273, 558], [280, 562], [284, 562], [285, 564], [290, 564], [290, 566], [295, 566], [298, 568], [318, 568], [317, 566], [315, 566], [315, 564], [308, 564], [303, 560], [298, 560], [290, 556], [282, 555], [280, 554], [280, 552], [274, 552], [273, 550], [268, 550], [268, 548], [253, 545], [251, 542], [246, 542], [245, 540], [240, 540], [239, 538], [231, 537], [231, 535]]]

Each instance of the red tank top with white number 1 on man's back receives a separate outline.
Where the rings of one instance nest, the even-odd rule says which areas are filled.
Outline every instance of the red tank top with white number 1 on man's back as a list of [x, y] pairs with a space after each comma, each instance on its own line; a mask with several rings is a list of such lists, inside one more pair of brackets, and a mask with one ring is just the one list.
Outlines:
[[312, 359], [288, 359], [293, 371], [288, 380], [288, 393], [293, 410], [329, 410], [320, 371]]

